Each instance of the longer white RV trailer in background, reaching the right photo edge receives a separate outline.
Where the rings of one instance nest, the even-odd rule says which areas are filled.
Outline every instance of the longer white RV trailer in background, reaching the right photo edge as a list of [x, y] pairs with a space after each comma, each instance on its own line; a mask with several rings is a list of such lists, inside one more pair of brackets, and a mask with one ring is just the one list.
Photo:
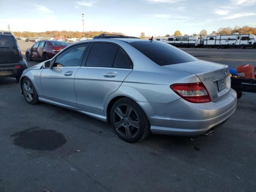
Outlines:
[[256, 36], [253, 34], [232, 34], [232, 35], [206, 35], [200, 40], [202, 47], [216, 48], [256, 48]]

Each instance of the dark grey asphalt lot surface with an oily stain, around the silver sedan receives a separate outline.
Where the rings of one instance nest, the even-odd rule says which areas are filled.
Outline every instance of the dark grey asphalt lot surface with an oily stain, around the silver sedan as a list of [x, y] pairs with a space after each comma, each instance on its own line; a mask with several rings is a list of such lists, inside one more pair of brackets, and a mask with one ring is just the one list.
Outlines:
[[[33, 43], [19, 44], [24, 54]], [[256, 49], [182, 50], [256, 66]], [[0, 79], [0, 146], [0, 192], [255, 192], [256, 94], [243, 93], [210, 137], [151, 134], [130, 144], [89, 116], [29, 105], [14, 78]]]

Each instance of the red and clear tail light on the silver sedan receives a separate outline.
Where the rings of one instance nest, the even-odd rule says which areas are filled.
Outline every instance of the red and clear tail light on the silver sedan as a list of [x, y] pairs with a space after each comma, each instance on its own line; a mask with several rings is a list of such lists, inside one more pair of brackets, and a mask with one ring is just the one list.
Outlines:
[[170, 88], [183, 99], [192, 103], [211, 102], [210, 95], [202, 82], [200, 83], [177, 83]]

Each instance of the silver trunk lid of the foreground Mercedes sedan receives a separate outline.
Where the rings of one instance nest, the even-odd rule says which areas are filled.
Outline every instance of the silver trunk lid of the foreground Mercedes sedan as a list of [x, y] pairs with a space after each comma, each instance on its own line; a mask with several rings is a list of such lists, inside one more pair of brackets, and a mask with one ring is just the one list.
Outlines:
[[231, 81], [227, 65], [198, 60], [164, 67], [196, 74], [208, 90], [212, 102], [222, 99], [230, 90]]

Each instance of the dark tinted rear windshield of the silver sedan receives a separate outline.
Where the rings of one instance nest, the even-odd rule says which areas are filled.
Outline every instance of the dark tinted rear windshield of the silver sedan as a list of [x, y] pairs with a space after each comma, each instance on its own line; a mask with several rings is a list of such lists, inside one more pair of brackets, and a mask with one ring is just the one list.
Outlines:
[[129, 44], [160, 66], [198, 60], [190, 54], [164, 42], [149, 40], [130, 42]]

